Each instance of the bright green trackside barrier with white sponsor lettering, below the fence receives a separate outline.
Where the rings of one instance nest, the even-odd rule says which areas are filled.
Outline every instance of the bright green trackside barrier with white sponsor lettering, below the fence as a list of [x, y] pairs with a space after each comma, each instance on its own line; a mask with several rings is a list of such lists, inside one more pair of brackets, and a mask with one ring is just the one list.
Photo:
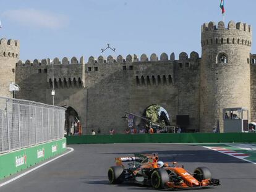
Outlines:
[[0, 155], [0, 180], [66, 151], [66, 138]]

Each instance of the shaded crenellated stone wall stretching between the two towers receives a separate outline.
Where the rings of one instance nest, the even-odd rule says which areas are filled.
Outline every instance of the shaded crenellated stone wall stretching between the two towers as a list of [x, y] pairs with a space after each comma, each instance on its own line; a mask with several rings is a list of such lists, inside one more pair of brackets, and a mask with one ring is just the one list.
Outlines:
[[[112, 56], [89, 57], [84, 64], [83, 57], [71, 62], [64, 57], [53, 61], [35, 59], [17, 63], [16, 82], [20, 85], [19, 98], [52, 104], [70, 106], [78, 112], [83, 132], [98, 128], [108, 133], [111, 128], [123, 133], [127, 121], [121, 117], [125, 112], [143, 115], [152, 104], [164, 107], [176, 124], [176, 115], [190, 115], [190, 129], [198, 129], [199, 122], [199, 61], [198, 54], [186, 53], [175, 60], [163, 53], [148, 58], [129, 55], [126, 58]], [[54, 67], [54, 80], [52, 80]], [[135, 119], [139, 125], [140, 119]]]

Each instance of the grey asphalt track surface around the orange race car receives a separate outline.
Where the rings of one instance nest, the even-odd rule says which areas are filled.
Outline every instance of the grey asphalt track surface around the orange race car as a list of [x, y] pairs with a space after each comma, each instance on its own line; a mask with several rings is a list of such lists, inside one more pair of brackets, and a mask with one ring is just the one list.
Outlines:
[[177, 161], [191, 172], [205, 166], [211, 170], [213, 178], [221, 181], [221, 186], [216, 188], [190, 191], [256, 191], [256, 165], [194, 144], [80, 144], [69, 147], [74, 148], [74, 152], [2, 186], [0, 191], [155, 191], [140, 185], [108, 183], [107, 172], [109, 166], [114, 165], [114, 157], [134, 152], [158, 152], [162, 161]]

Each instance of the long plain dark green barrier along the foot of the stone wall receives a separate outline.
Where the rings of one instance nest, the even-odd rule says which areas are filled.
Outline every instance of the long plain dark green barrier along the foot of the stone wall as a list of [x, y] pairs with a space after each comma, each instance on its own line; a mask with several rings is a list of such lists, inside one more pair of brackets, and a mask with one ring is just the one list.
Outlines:
[[256, 133], [161, 133], [66, 136], [67, 144], [93, 143], [255, 143]]

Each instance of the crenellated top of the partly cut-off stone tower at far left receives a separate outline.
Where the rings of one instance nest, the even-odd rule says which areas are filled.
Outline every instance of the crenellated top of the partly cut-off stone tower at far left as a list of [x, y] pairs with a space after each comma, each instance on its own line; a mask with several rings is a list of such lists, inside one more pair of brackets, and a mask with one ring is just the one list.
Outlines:
[[6, 40], [1, 38], [0, 40], [0, 56], [7, 59], [18, 59], [20, 55], [20, 42], [19, 40]]

